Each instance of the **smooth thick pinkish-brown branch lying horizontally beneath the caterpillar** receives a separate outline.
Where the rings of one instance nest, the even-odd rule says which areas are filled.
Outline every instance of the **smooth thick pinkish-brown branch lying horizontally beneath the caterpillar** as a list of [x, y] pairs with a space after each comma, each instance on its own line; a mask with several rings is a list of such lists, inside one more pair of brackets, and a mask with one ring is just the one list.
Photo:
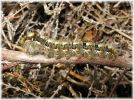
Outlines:
[[98, 65], [107, 65], [107, 66], [117, 66], [117, 67], [132, 67], [132, 58], [125, 56], [119, 56], [116, 59], [107, 59], [101, 57], [92, 57], [87, 59], [84, 57], [71, 57], [69, 59], [61, 58], [47, 58], [43, 55], [28, 55], [24, 52], [13, 51], [2, 49], [2, 60], [12, 61], [12, 62], [28, 62], [28, 63], [68, 63], [68, 64], [78, 64], [78, 63], [89, 63], [89, 64], [98, 64]]

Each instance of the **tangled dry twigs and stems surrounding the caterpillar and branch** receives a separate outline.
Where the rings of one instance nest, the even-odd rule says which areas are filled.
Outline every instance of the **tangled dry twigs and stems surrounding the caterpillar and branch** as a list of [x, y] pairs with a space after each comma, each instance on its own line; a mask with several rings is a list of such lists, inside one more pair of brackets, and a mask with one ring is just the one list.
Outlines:
[[[131, 2], [2, 2], [2, 97], [132, 97], [132, 64], [126, 64], [132, 59], [131, 6]], [[11, 52], [5, 49], [17, 59], [16, 51], [24, 52], [27, 31], [112, 44], [124, 66], [8, 61]]]

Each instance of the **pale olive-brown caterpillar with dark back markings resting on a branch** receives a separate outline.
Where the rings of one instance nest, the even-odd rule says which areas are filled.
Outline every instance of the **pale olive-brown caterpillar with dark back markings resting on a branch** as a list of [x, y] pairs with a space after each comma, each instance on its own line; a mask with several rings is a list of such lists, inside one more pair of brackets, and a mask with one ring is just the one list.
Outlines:
[[[34, 35], [33, 35], [34, 34]], [[34, 32], [27, 32], [28, 37], [35, 36]], [[24, 44], [26, 52], [31, 55], [42, 54], [48, 58], [69, 59], [73, 56], [94, 56], [114, 59], [116, 50], [109, 44], [92, 43], [83, 41], [54, 40], [47, 37], [35, 36], [33, 40], [27, 40]]]

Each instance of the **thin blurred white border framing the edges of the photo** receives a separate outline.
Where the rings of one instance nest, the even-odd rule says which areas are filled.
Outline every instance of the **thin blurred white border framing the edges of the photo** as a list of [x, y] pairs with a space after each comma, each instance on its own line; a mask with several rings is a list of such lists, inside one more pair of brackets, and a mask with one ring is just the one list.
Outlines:
[[[71, 2], [79, 2], [79, 1], [92, 1], [92, 2], [94, 2], [94, 1], [98, 1], [98, 2], [106, 2], [106, 1], [109, 1], [109, 2], [114, 2], [114, 1], [120, 1], [120, 2], [126, 2], [126, 1], [129, 1], [129, 2], [131, 2], [132, 3], [132, 15], [133, 15], [133, 19], [134, 19], [134, 1], [133, 0], [1, 0], [1, 2], [0, 2], [0, 8], [1, 8], [1, 6], [2, 6], [2, 2], [11, 2], [11, 1], [16, 1], [16, 2], [26, 2], [26, 1], [29, 1], [29, 2], [44, 2], [44, 1], [49, 1], [49, 2], [54, 2], [54, 1], [71, 1]], [[1, 8], [2, 9], [2, 8]], [[0, 15], [2, 15], [2, 11], [0, 10]], [[132, 25], [134, 25], [134, 20], [132, 19]], [[0, 18], [0, 22], [2, 22], [1, 21], [1, 18]], [[2, 28], [2, 25], [0, 24], [0, 28]], [[1, 32], [1, 30], [0, 30], [0, 32]], [[133, 27], [133, 30], [132, 30], [132, 37], [133, 37], [133, 39], [134, 39], [134, 27]], [[133, 42], [133, 44], [134, 44], [134, 41], [132, 41]], [[1, 33], [0, 33], [0, 47], [1, 47]], [[132, 49], [133, 49], [134, 47], [132, 47]], [[134, 51], [132, 50], [132, 53], [133, 53], [133, 57], [134, 57]], [[133, 58], [132, 57], [132, 58]], [[134, 59], [132, 59], [132, 61], [134, 62]], [[1, 48], [0, 48], [0, 64], [1, 64]], [[133, 67], [133, 66], [132, 66]], [[133, 69], [133, 68], [132, 68]], [[134, 71], [134, 70], [133, 70]], [[132, 87], [133, 87], [133, 90], [132, 90], [132, 98], [123, 98], [124, 100], [132, 100], [133, 98], [134, 98], [134, 95], [133, 95], [133, 91], [134, 91], [134, 86], [133, 86], [133, 84], [134, 84], [134, 72], [132, 71], [132, 78], [133, 78], [133, 80], [132, 80]], [[0, 72], [1, 72], [1, 67], [0, 67]], [[1, 74], [1, 76], [2, 76], [2, 74]], [[0, 78], [0, 86], [1, 86], [1, 84], [2, 84], [2, 77]], [[0, 99], [3, 99], [2, 98], [2, 89], [0, 89]], [[11, 98], [10, 98], [11, 99]], [[9, 100], [10, 100], [9, 99]], [[12, 98], [12, 99], [16, 99], [16, 98]], [[20, 98], [20, 99], [22, 99], [22, 98]], [[16, 100], [20, 100], [19, 98], [18, 99], [16, 99]], [[27, 100], [28, 98], [23, 98], [24, 100]], [[44, 100], [44, 99], [49, 99], [49, 98], [35, 98], [35, 99], [40, 99], [40, 100]], [[54, 98], [55, 99], [55, 98]], [[85, 99], [85, 98], [81, 98], [81, 99]], [[103, 100], [103, 99], [106, 99], [106, 100], [120, 100], [120, 99], [122, 99], [122, 98], [88, 98], [88, 99], [91, 99], [91, 100], [94, 100], [94, 99], [99, 99], [99, 100]], [[8, 99], [3, 99], [3, 100], [8, 100]], [[79, 100], [79, 99], [78, 99]]]

